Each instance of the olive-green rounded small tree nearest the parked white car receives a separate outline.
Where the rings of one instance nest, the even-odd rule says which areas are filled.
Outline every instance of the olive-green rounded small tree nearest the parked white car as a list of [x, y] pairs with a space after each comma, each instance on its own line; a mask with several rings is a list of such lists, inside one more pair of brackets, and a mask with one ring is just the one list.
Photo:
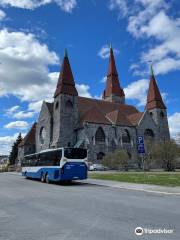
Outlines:
[[107, 154], [103, 160], [102, 164], [106, 167], [125, 171], [128, 170], [128, 154], [125, 150], [117, 150], [113, 153]]

